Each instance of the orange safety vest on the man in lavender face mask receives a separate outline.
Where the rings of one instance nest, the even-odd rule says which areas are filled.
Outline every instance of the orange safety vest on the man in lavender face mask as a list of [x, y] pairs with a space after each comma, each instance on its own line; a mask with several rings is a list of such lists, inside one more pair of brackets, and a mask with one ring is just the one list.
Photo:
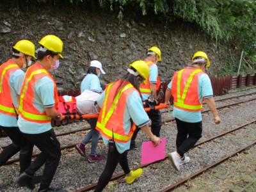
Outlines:
[[28, 120], [29, 122], [51, 122], [51, 117], [47, 116], [45, 111], [40, 113], [40, 111], [38, 111], [38, 109], [36, 109], [32, 104], [35, 94], [34, 84], [36, 83], [36, 79], [40, 79], [45, 76], [51, 78], [54, 83], [55, 108], [58, 109], [58, 91], [56, 83], [51, 74], [36, 62], [34, 65], [28, 68], [24, 77], [20, 94], [19, 114], [22, 118]]

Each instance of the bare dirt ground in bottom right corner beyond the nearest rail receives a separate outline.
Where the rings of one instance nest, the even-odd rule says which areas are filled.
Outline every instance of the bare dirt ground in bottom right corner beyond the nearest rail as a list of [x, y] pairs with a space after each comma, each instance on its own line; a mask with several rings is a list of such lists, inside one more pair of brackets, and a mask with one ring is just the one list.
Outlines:
[[256, 191], [256, 146], [230, 157], [228, 161], [191, 179], [173, 190], [184, 191]]

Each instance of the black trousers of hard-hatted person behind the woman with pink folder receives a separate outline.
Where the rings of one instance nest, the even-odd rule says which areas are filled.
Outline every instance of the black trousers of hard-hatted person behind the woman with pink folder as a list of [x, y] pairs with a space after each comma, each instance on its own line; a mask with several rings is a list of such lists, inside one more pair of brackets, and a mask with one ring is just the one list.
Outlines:
[[[160, 136], [161, 126], [162, 126], [162, 116], [159, 110], [150, 110], [147, 112], [148, 117], [152, 121], [151, 131], [157, 137]], [[135, 139], [137, 137], [140, 128], [136, 126], [136, 129], [131, 138], [131, 145], [135, 144]]]

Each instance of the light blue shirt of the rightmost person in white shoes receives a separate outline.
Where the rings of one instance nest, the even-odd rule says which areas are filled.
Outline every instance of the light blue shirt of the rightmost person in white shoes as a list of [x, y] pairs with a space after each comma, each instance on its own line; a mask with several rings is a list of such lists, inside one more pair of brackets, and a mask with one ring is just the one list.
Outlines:
[[[172, 90], [172, 81], [167, 86], [168, 90]], [[207, 74], [201, 74], [198, 79], [198, 99], [202, 102], [203, 98], [213, 97], [211, 79]], [[184, 122], [196, 123], [202, 121], [201, 111], [184, 111], [173, 106], [173, 117], [179, 118]]]

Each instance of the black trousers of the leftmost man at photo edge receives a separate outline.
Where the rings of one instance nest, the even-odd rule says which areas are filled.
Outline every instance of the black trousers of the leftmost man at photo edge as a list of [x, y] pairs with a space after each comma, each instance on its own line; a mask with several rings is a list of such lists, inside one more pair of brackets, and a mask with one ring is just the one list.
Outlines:
[[2, 166], [8, 159], [20, 152], [20, 173], [24, 172], [31, 163], [33, 154], [33, 144], [30, 143], [20, 132], [19, 127], [2, 127], [0, 126], [8, 137], [12, 140], [12, 144], [4, 148], [0, 154], [0, 166]]

